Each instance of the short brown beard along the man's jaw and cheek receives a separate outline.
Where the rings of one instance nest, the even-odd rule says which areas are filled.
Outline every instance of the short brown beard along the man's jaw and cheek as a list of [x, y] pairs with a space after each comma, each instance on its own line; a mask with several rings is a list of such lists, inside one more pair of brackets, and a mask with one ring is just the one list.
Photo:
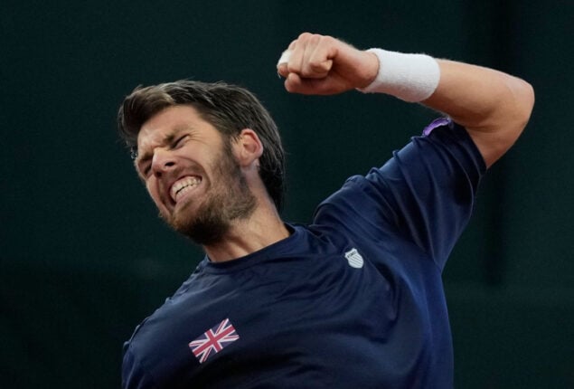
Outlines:
[[211, 180], [213, 186], [204, 194], [206, 199], [202, 204], [195, 206], [196, 211], [189, 210], [194, 206], [190, 202], [183, 204], [173, 215], [162, 215], [175, 231], [202, 246], [222, 242], [231, 229], [231, 223], [247, 219], [257, 204], [229, 148], [215, 158], [217, 165], [212, 166], [212, 171], [216, 173]]

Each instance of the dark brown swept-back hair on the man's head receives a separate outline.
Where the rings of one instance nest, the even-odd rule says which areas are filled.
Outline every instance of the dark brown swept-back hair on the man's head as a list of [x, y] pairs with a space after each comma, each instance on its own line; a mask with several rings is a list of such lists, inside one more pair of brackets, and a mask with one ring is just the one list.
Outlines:
[[148, 87], [139, 86], [123, 101], [118, 111], [120, 137], [137, 153], [137, 134], [142, 125], [161, 110], [190, 105], [203, 120], [231, 141], [244, 128], [254, 130], [263, 144], [259, 176], [278, 210], [283, 204], [285, 151], [277, 125], [267, 109], [249, 90], [223, 82], [181, 80]]

